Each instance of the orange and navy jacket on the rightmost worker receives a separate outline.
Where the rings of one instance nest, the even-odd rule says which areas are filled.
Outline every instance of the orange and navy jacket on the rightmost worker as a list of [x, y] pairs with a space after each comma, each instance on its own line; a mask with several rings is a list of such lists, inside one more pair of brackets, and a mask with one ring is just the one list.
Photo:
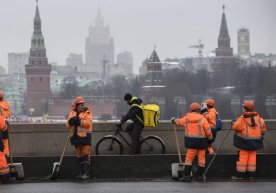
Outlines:
[[234, 146], [254, 151], [263, 148], [262, 135], [265, 134], [264, 119], [257, 112], [246, 112], [238, 117], [232, 128], [235, 130]]

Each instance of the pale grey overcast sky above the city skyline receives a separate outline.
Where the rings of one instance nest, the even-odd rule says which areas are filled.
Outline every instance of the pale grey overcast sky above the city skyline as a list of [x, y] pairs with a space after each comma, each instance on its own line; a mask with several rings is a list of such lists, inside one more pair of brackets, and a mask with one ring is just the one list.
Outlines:
[[[231, 46], [237, 53], [237, 30], [250, 30], [251, 53], [276, 54], [275, 0], [39, 0], [49, 62], [65, 65], [69, 53], [85, 60], [85, 38], [98, 5], [110, 25], [115, 58], [132, 52], [134, 70], [156, 45], [161, 60], [196, 55], [189, 48], [201, 39], [208, 53], [217, 47], [222, 5]], [[0, 65], [9, 52], [27, 52], [33, 32], [35, 0], [0, 0]]]

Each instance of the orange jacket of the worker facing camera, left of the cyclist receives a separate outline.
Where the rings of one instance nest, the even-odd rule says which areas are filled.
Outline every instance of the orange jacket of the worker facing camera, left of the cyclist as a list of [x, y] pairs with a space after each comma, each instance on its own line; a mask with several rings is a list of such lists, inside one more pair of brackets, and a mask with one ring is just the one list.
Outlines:
[[69, 120], [77, 116], [76, 111], [72, 111], [69, 113], [66, 127], [69, 129], [74, 129], [74, 132], [71, 132], [71, 137], [74, 137], [77, 141], [75, 145], [91, 145], [91, 132], [92, 132], [92, 112], [90, 109], [86, 109], [81, 112], [78, 117], [80, 119], [80, 126], [71, 126], [69, 125]]

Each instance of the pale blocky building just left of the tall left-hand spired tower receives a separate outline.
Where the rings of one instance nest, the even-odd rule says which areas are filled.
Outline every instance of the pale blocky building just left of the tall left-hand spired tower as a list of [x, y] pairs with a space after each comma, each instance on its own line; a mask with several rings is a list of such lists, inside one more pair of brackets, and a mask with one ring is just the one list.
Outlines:
[[9, 53], [8, 54], [8, 73], [25, 74], [25, 65], [28, 64], [29, 53]]

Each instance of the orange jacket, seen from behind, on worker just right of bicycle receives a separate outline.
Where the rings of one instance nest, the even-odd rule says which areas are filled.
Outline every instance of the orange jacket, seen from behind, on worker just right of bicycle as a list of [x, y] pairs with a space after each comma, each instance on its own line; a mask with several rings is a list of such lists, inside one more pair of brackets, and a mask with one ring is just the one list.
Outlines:
[[205, 149], [208, 140], [212, 140], [212, 132], [207, 119], [196, 112], [187, 113], [181, 119], [175, 119], [176, 125], [182, 125], [185, 131], [185, 147]]

